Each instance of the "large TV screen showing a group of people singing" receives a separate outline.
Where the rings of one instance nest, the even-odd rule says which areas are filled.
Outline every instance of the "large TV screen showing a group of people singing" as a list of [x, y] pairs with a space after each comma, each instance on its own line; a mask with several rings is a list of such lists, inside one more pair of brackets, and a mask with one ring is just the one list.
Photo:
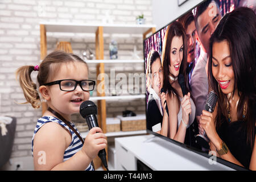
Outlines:
[[[146, 125], [151, 134], [249, 169], [255, 97], [247, 96], [255, 96], [255, 85], [242, 89], [247, 67], [238, 65], [253, 65], [247, 76], [255, 83], [255, 7], [240, 6], [203, 1], [144, 39]], [[239, 48], [240, 40], [246, 45]], [[248, 57], [240, 59], [243, 53]]]

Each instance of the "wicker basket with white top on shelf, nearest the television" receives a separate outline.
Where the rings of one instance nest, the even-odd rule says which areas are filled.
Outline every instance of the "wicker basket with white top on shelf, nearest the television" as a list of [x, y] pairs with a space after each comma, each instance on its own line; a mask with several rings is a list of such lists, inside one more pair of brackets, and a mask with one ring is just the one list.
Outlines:
[[133, 117], [122, 117], [118, 115], [117, 117], [121, 119], [122, 131], [146, 130], [146, 115], [144, 114]]

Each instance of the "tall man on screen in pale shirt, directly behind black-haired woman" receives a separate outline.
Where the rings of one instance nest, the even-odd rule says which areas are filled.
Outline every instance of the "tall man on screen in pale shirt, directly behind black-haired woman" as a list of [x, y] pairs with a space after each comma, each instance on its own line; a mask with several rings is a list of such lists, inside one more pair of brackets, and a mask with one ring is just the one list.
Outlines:
[[220, 9], [215, 1], [205, 1], [197, 6], [195, 24], [201, 43], [201, 50], [190, 82], [191, 93], [196, 104], [197, 121], [199, 121], [202, 110], [204, 109], [209, 89], [207, 72], [205, 71], [208, 61], [209, 39], [217, 27], [218, 22], [220, 22], [220, 19]]

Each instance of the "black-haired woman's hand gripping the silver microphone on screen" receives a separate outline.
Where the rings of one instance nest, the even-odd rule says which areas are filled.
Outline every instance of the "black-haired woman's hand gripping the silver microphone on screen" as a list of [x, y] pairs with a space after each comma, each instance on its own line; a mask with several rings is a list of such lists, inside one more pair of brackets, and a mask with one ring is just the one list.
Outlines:
[[216, 138], [217, 131], [216, 131], [212, 113], [206, 110], [203, 110], [203, 113], [201, 114], [199, 126], [201, 126], [204, 129], [205, 133], [207, 134], [207, 137], [210, 140], [213, 141], [213, 139]]

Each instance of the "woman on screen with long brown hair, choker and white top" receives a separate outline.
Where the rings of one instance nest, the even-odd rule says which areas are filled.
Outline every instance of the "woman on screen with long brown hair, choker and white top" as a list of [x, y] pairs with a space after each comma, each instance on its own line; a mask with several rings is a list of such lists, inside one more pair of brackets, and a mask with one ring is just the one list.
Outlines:
[[[170, 138], [196, 147], [195, 137], [192, 135], [192, 133], [198, 132], [198, 126], [195, 126], [197, 122], [193, 122], [195, 120], [196, 107], [189, 92], [183, 96], [177, 79], [179, 74], [182, 74], [184, 78], [187, 77], [185, 74], [187, 38], [184, 28], [179, 22], [173, 22], [167, 27], [163, 41], [162, 56], [163, 88], [166, 92], [170, 116]], [[184, 79], [184, 81], [187, 86], [187, 79]], [[185, 89], [188, 90], [187, 88]], [[189, 131], [191, 135], [189, 135]]]

